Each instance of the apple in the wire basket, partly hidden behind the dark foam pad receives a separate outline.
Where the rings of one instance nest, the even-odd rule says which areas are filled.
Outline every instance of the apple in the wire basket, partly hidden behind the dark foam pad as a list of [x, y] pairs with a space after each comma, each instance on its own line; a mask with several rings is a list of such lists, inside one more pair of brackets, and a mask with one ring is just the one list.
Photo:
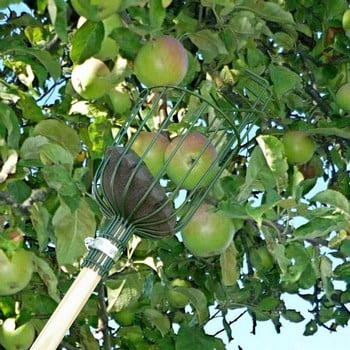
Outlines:
[[[151, 143], [154, 144], [147, 149]], [[131, 145], [131, 149], [145, 162], [153, 176], [157, 176], [164, 166], [165, 150], [170, 144], [168, 138], [157, 135], [157, 131], [141, 131]]]

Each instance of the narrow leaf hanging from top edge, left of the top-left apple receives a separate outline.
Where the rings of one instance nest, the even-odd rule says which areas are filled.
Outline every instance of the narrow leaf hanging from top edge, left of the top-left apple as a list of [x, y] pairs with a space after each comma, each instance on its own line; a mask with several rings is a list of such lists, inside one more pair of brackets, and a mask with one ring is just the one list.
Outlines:
[[58, 37], [68, 41], [67, 34], [67, 3], [64, 0], [48, 0], [47, 10]]

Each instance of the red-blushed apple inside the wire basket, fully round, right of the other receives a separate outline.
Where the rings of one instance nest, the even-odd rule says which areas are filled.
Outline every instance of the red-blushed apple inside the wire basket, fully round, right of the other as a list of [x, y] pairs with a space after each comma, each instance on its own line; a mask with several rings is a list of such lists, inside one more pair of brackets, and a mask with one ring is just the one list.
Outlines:
[[164, 154], [165, 161], [169, 161], [166, 172], [176, 185], [191, 190], [212, 181], [218, 170], [217, 151], [208, 142], [208, 138], [197, 131], [179, 135], [170, 142]]

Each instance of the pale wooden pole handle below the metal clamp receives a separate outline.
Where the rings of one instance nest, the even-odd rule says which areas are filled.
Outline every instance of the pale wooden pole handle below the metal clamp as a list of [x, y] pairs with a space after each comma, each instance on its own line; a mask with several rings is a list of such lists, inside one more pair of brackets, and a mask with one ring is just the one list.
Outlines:
[[100, 280], [96, 271], [84, 267], [30, 350], [56, 350]]

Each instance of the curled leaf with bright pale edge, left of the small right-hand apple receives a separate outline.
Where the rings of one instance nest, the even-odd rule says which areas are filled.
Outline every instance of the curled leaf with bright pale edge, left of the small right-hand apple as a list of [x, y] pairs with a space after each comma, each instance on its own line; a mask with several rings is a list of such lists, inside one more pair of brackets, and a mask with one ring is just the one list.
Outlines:
[[288, 185], [288, 163], [284, 155], [282, 142], [272, 135], [260, 135], [256, 140], [276, 179], [277, 188], [282, 191]]

